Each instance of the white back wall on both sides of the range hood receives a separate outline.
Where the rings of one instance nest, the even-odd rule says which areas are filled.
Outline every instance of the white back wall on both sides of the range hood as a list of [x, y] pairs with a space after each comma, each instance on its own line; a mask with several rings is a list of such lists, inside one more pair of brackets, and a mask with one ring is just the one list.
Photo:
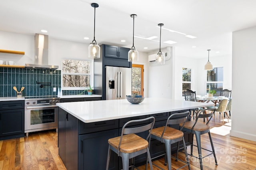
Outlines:
[[[25, 51], [25, 55], [0, 53], [0, 59], [4, 61], [14, 61], [16, 65], [24, 66], [25, 63], [34, 63], [34, 35], [16, 34], [0, 31], [0, 47], [14, 51]], [[58, 65], [61, 68], [61, 59], [88, 58], [88, 45], [85, 43], [56, 40], [49, 37], [49, 65]]]

